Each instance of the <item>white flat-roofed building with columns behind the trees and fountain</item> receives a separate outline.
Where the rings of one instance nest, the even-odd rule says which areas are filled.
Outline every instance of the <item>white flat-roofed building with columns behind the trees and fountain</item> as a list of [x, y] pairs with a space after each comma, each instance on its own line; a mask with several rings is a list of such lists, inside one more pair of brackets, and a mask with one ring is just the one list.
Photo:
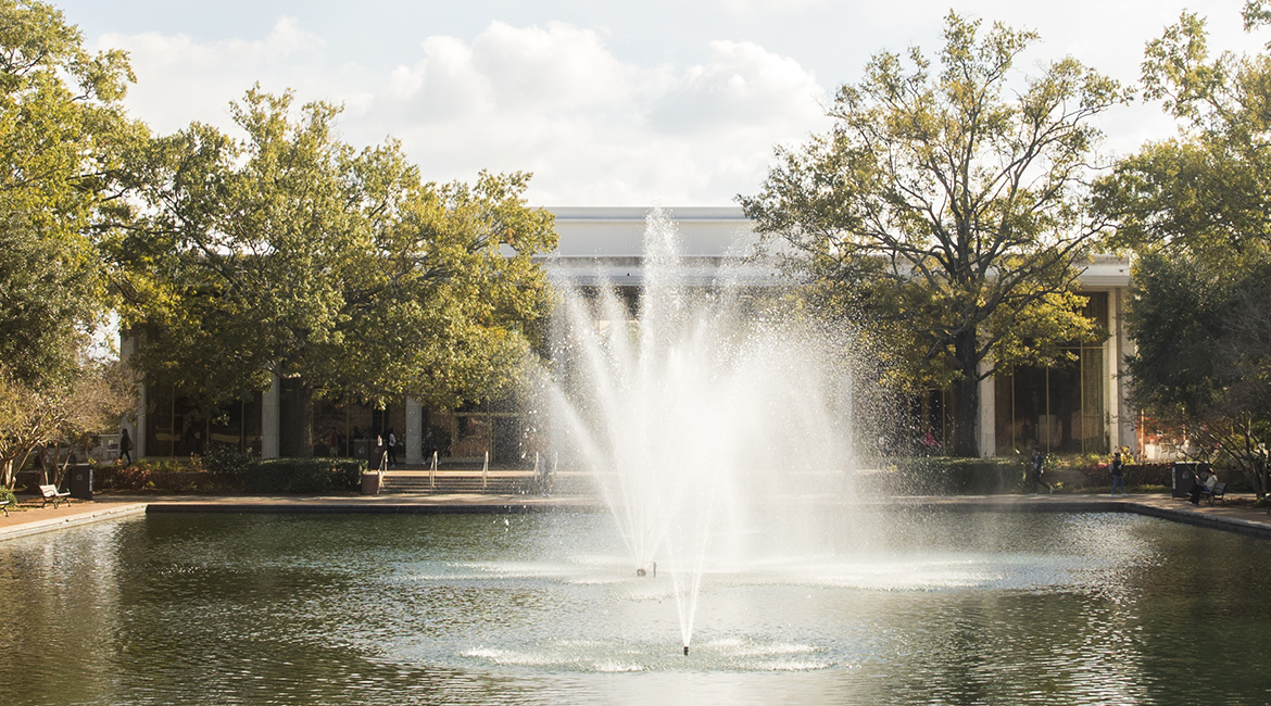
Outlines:
[[[648, 210], [639, 207], [553, 208], [559, 246], [541, 263], [553, 278], [577, 286], [608, 284], [634, 301], [644, 279], [644, 230]], [[750, 221], [736, 207], [671, 208], [667, 215], [680, 234], [683, 262], [691, 279], [713, 286], [724, 265], [735, 265], [754, 241]], [[730, 267], [730, 277], [750, 286], [780, 286], [775, 272], [763, 267]], [[1013, 370], [981, 383], [979, 447], [986, 456], [1008, 455], [1032, 444], [1049, 452], [1098, 452], [1134, 448], [1132, 419], [1124, 414], [1124, 359], [1130, 352], [1122, 326], [1130, 265], [1101, 258], [1080, 277], [1089, 300], [1088, 315], [1111, 333], [1097, 345], [1074, 348], [1075, 366], [1063, 370]], [[633, 307], [634, 310], [634, 307]], [[121, 350], [128, 354], [125, 340]], [[131, 429], [136, 456], [188, 456], [207, 441], [238, 443], [263, 457], [280, 453], [280, 425], [285, 414], [286, 381], [228, 409], [217, 419], [192, 425], [182, 414], [179, 391], [145, 385], [137, 422]], [[432, 450], [450, 458], [474, 461], [489, 455], [507, 463], [522, 456], [525, 423], [515, 409], [431, 410], [411, 399], [384, 410], [315, 403], [314, 438], [322, 448], [360, 456], [365, 450], [355, 434], [394, 428], [404, 444], [404, 461], [423, 463]], [[921, 405], [924, 425], [948, 438], [948, 399], [934, 392]], [[197, 428], [194, 428], [197, 427]], [[356, 432], [355, 432], [356, 430]]]

